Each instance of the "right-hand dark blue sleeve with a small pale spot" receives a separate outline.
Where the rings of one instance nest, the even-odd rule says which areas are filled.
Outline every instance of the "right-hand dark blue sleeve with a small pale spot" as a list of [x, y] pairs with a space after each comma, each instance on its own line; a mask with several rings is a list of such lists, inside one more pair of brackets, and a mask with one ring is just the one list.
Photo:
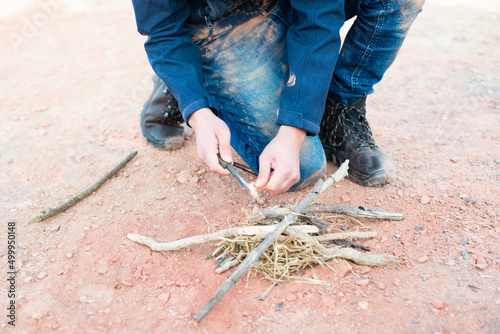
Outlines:
[[[347, 0], [346, 0], [347, 1]], [[315, 135], [340, 49], [342, 0], [291, 0], [287, 32], [289, 78], [280, 95], [277, 123]]]

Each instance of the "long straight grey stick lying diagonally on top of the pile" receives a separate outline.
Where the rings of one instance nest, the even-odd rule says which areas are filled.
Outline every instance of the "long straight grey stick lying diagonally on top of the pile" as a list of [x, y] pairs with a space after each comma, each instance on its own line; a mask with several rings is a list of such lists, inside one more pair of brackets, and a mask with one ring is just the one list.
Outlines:
[[[342, 166], [337, 170], [337, 172], [334, 175], [331, 176], [331, 179], [333, 180], [332, 182], [329, 182], [333, 184], [334, 182], [338, 182], [342, 180], [346, 175], [347, 175], [347, 169], [348, 169], [348, 163], [349, 161], [346, 160]], [[243, 274], [254, 264], [255, 261], [257, 261], [262, 253], [265, 252], [269, 246], [276, 240], [276, 238], [283, 233], [283, 231], [287, 228], [288, 225], [290, 225], [296, 218], [297, 213], [301, 213], [302, 210], [304, 210], [310, 203], [312, 203], [318, 195], [326, 189], [326, 187], [323, 187], [324, 182], [320, 179], [316, 184], [314, 185], [313, 189], [307, 194], [304, 199], [302, 199], [293, 209], [291, 212], [289, 212], [285, 218], [278, 224], [276, 229], [269, 234], [269, 236], [264, 239], [259, 246], [257, 246], [248, 256], [245, 258], [245, 260], [236, 268], [235, 271], [222, 283], [222, 285], [217, 289], [215, 294], [210, 298], [210, 300], [205, 304], [205, 306], [202, 307], [201, 310], [196, 313], [193, 318], [191, 319], [192, 324], [197, 324], [203, 318], [217, 305], [219, 300], [224, 297], [224, 295], [233, 287], [233, 285], [243, 276]]]

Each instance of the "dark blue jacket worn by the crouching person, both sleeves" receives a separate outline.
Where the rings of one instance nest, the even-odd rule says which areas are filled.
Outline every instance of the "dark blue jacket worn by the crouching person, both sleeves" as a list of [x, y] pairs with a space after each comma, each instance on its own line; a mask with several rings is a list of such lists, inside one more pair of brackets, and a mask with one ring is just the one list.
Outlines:
[[[197, 20], [193, 18], [193, 13], [198, 13], [199, 20], [206, 10], [208, 15], [212, 15], [208, 19], [217, 19], [217, 16], [224, 15], [220, 13], [224, 5], [231, 7], [235, 3], [251, 2], [264, 10], [274, 1], [212, 0], [208, 3], [219, 2], [220, 6], [198, 7], [192, 11], [193, 3], [200, 0], [132, 0], [138, 31], [148, 36], [145, 49], [151, 66], [178, 100], [184, 120], [187, 121], [198, 109], [217, 109], [214, 98], [205, 88], [202, 58], [198, 47], [191, 41], [192, 31], [186, 24]], [[339, 30], [344, 23], [344, 1], [279, 1], [290, 8], [285, 13], [290, 21], [287, 32], [289, 79], [280, 95], [276, 123], [315, 135], [319, 132], [340, 48]]]

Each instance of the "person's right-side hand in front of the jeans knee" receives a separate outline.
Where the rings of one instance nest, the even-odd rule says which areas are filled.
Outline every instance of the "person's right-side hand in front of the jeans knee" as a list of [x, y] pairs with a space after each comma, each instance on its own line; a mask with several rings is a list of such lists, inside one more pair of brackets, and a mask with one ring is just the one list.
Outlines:
[[[306, 131], [282, 125], [278, 134], [259, 157], [257, 189], [265, 188], [274, 195], [281, 194], [300, 180], [300, 147]], [[274, 171], [271, 172], [271, 169]]]

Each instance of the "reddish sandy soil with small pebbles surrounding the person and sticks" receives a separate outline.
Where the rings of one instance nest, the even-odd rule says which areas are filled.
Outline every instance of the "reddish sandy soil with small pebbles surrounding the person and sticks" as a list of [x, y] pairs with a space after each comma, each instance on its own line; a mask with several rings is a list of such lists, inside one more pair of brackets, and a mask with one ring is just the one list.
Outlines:
[[[496, 0], [428, 1], [368, 101], [375, 137], [394, 158], [398, 179], [382, 188], [345, 180], [319, 198], [404, 213], [402, 222], [361, 220], [379, 232], [367, 243], [373, 252], [394, 254], [400, 264], [351, 263], [351, 272], [332, 261], [336, 272], [304, 274], [326, 285], [279, 284], [266, 301], [255, 297], [268, 281], [242, 279], [196, 328], [188, 320], [227, 277], [204, 260], [213, 247], [165, 256], [126, 235], [167, 241], [238, 226], [255, 203], [234, 179], [207, 172], [193, 138], [177, 152], [154, 149], [142, 138], [139, 112], [152, 88], [151, 70], [130, 2], [25, 1], [18, 11], [5, 10], [0, 331], [500, 332]], [[98, 192], [27, 225], [132, 150], [137, 157]], [[191, 181], [179, 182], [179, 173]], [[307, 191], [266, 194], [261, 206], [293, 203]], [[17, 233], [15, 329], [6, 318], [8, 222]]]

